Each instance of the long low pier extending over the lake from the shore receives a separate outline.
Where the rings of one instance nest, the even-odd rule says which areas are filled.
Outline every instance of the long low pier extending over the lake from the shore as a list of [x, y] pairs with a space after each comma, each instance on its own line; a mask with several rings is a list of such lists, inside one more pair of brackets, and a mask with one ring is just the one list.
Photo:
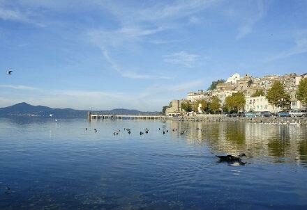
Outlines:
[[98, 113], [87, 114], [87, 119], [91, 120], [165, 120], [165, 115], [103, 115]]

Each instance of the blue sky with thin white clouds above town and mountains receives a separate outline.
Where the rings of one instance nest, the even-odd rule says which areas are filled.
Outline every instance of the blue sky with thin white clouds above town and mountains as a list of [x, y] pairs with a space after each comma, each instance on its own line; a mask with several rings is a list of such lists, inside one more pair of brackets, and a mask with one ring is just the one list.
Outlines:
[[160, 111], [234, 72], [302, 74], [306, 11], [299, 0], [0, 0], [0, 107]]

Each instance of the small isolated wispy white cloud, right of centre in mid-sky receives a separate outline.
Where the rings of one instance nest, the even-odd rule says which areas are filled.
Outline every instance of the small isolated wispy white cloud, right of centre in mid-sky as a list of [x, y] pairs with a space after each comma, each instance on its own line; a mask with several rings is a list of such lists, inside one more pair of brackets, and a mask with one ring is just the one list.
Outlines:
[[188, 54], [186, 51], [164, 56], [166, 63], [178, 64], [184, 67], [195, 67], [200, 56], [197, 54]]

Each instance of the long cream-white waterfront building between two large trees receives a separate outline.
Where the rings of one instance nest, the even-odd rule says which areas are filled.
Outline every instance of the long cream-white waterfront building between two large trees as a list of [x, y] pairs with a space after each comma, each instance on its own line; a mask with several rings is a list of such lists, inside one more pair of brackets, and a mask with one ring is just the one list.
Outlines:
[[276, 112], [274, 106], [269, 104], [265, 96], [246, 97], [245, 111], [271, 111]]

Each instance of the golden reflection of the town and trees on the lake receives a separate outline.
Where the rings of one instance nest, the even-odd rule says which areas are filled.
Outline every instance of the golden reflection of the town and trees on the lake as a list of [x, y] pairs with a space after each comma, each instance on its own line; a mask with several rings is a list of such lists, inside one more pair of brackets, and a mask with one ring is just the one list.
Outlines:
[[[174, 138], [194, 145], [207, 145], [215, 154], [269, 157], [273, 162], [307, 163], [306, 126], [247, 122], [170, 121]], [[186, 131], [181, 135], [181, 131]]]

